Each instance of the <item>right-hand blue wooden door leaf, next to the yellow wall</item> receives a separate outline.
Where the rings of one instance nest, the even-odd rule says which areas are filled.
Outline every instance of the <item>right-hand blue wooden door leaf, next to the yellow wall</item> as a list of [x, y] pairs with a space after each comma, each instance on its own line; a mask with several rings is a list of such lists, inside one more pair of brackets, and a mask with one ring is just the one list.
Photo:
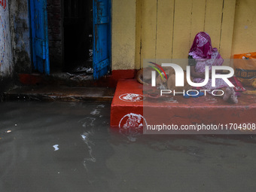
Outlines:
[[93, 77], [99, 79], [110, 69], [111, 1], [93, 0]]

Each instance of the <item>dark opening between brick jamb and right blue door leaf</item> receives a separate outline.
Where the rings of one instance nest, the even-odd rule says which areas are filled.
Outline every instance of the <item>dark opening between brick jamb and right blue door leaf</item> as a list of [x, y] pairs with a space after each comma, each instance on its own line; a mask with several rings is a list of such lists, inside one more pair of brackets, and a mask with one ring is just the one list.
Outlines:
[[64, 72], [93, 72], [93, 0], [64, 0]]

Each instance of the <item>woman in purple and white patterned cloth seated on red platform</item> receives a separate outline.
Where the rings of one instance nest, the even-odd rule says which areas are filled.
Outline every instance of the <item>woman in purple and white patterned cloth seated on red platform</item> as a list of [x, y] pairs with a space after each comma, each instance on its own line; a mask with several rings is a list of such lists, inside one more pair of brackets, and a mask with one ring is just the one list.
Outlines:
[[[197, 33], [188, 53], [188, 65], [190, 75], [194, 78], [194, 83], [201, 83], [205, 79], [206, 66], [209, 66], [209, 81], [203, 87], [206, 90], [223, 90], [225, 102], [237, 103], [237, 97], [233, 87], [229, 87], [222, 79], [216, 79], [216, 87], [212, 87], [212, 66], [221, 66], [223, 59], [217, 48], [212, 48], [212, 41], [206, 32]], [[221, 73], [222, 71], [216, 71]]]

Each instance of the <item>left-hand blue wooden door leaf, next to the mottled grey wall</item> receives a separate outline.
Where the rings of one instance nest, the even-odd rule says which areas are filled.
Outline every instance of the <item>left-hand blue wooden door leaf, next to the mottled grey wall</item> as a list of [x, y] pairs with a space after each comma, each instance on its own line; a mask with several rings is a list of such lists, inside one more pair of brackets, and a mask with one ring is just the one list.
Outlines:
[[50, 74], [47, 0], [30, 0], [32, 59], [35, 71]]

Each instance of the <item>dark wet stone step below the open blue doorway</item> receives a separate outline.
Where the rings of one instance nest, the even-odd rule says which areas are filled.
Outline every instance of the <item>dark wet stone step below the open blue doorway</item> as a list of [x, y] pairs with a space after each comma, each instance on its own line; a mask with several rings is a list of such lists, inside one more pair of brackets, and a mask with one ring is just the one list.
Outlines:
[[16, 86], [4, 93], [4, 100], [111, 102], [114, 90], [110, 87]]

